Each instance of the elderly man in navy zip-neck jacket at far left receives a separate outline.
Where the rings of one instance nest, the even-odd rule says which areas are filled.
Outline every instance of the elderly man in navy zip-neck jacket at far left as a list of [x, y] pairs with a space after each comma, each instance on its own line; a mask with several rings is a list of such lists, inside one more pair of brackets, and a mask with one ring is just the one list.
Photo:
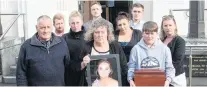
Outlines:
[[69, 65], [65, 40], [52, 33], [52, 20], [43, 15], [37, 19], [37, 33], [20, 49], [17, 85], [64, 86], [64, 73]]

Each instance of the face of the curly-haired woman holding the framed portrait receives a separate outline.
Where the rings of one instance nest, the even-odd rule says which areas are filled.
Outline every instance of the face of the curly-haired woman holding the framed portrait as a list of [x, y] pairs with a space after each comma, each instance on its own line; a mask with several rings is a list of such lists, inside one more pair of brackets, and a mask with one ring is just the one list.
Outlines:
[[103, 43], [108, 41], [107, 39], [107, 28], [105, 26], [98, 27], [93, 33], [94, 41], [97, 43]]

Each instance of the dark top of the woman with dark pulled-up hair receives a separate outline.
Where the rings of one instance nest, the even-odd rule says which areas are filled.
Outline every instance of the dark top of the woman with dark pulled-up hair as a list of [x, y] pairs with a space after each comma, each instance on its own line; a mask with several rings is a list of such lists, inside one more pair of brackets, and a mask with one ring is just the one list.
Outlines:
[[[124, 50], [124, 53], [126, 55], [126, 58], [127, 58], [127, 62], [129, 62], [129, 55], [130, 55], [130, 51], [131, 49], [134, 47], [134, 45], [136, 45], [140, 39], [142, 38], [142, 33], [140, 30], [136, 30], [136, 29], [132, 29], [133, 30], [133, 33], [132, 33], [132, 37], [131, 37], [131, 40], [130, 42], [128, 43], [125, 43], [125, 45], [121, 45], [122, 49]], [[120, 30], [117, 30], [114, 32], [114, 36], [115, 36], [115, 39], [116, 41], [119, 40], [119, 32]]]

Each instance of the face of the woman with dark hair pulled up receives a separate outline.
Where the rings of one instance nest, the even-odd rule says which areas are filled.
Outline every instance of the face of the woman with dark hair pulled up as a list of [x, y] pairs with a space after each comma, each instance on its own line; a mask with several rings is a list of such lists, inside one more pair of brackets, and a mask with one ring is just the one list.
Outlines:
[[118, 29], [121, 31], [127, 31], [130, 29], [129, 20], [127, 19], [121, 19], [117, 21]]

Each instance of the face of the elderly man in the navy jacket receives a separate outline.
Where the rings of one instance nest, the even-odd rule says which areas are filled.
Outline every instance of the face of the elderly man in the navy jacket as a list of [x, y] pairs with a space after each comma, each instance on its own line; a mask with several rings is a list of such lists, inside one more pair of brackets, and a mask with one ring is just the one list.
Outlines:
[[40, 19], [39, 24], [36, 25], [36, 30], [40, 40], [50, 40], [52, 34], [51, 19]]

